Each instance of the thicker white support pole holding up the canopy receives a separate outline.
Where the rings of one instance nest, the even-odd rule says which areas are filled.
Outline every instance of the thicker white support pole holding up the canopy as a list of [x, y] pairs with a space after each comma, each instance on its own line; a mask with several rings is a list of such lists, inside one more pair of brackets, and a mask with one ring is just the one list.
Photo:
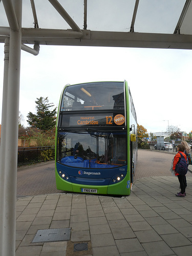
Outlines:
[[4, 183], [4, 216], [3, 216], [3, 256], [15, 255], [16, 232], [16, 178], [18, 148], [18, 113], [22, 0], [13, 0], [19, 30], [10, 29], [10, 54], [7, 94], [6, 148], [5, 148], [5, 183]]

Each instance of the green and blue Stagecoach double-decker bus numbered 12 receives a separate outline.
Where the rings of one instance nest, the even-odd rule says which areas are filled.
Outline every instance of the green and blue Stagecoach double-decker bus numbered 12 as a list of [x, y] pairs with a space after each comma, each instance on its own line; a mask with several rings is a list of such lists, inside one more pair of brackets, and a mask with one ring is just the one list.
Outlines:
[[129, 195], [137, 163], [137, 117], [127, 82], [67, 84], [55, 148], [57, 189]]

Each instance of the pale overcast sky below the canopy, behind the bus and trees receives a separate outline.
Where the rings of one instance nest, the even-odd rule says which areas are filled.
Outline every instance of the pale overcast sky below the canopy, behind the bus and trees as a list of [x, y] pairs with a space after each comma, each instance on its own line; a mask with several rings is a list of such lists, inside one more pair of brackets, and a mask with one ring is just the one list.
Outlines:
[[[40, 46], [38, 56], [22, 51], [19, 111], [27, 126], [27, 114], [36, 113], [36, 98], [48, 97], [58, 106], [67, 83], [125, 79], [138, 123], [148, 133], [164, 132], [168, 123], [188, 133], [192, 131], [191, 68], [191, 50]], [[3, 69], [4, 44], [0, 44], [1, 114]]]

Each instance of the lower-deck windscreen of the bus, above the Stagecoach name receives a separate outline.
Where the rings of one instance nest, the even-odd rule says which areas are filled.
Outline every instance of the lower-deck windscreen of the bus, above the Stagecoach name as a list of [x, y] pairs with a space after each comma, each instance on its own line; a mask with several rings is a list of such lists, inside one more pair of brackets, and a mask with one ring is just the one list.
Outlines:
[[126, 134], [59, 132], [58, 161], [79, 168], [114, 168], [127, 163]]

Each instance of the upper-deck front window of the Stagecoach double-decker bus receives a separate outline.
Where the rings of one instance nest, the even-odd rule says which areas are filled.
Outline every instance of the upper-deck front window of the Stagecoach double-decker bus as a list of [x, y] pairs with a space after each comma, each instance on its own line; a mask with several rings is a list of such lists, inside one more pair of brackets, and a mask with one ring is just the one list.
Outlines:
[[123, 82], [93, 82], [67, 86], [60, 111], [124, 109]]

